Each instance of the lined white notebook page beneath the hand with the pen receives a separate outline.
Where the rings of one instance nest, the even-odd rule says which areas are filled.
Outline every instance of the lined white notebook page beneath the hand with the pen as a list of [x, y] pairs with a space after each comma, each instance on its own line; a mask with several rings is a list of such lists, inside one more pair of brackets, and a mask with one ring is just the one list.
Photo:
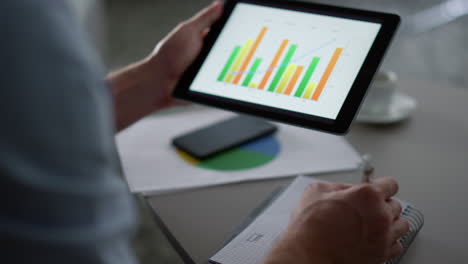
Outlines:
[[[307, 185], [319, 180], [297, 177], [290, 186], [246, 229], [237, 235], [211, 259], [220, 264], [260, 264], [273, 244], [286, 229], [289, 218]], [[400, 201], [403, 211], [410, 205]], [[396, 263], [396, 262], [389, 262]]]

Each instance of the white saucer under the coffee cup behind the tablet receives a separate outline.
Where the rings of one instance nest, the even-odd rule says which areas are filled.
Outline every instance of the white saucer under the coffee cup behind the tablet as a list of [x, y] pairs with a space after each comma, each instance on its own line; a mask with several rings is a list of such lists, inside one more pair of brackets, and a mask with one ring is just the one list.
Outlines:
[[413, 97], [402, 92], [395, 92], [389, 109], [384, 113], [359, 112], [356, 121], [368, 124], [391, 124], [407, 119], [416, 109], [417, 102]]

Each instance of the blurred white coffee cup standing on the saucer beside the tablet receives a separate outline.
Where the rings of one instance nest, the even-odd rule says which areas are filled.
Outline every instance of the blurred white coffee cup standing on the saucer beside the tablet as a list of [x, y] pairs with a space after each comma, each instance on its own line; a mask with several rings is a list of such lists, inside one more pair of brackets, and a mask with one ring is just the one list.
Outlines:
[[361, 112], [372, 115], [383, 115], [388, 113], [395, 90], [398, 77], [395, 72], [379, 71], [372, 80], [367, 91], [366, 99], [361, 107]]

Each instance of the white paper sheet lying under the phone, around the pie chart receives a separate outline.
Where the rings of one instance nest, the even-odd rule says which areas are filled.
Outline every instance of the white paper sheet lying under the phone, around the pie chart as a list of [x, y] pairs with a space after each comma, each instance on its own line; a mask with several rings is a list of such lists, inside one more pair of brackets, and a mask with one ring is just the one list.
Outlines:
[[293, 176], [355, 170], [360, 156], [343, 137], [278, 124], [280, 153], [270, 163], [242, 171], [198, 168], [181, 159], [173, 137], [230, 118], [231, 112], [202, 109], [151, 116], [121, 132], [117, 146], [130, 190], [157, 194], [188, 188]]

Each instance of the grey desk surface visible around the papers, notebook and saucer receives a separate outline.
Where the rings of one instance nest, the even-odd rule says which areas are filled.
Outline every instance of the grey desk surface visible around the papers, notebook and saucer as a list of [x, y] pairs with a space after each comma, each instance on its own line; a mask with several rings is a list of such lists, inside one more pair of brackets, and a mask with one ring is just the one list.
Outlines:
[[[347, 138], [370, 153], [377, 175], [395, 177], [399, 197], [425, 215], [402, 263], [468, 261], [468, 91], [426, 81], [400, 81], [418, 101], [410, 120], [353, 125]], [[319, 175], [356, 182], [351, 174]], [[172, 236], [195, 263], [206, 263], [251, 210], [290, 179], [203, 188], [148, 197]]]

